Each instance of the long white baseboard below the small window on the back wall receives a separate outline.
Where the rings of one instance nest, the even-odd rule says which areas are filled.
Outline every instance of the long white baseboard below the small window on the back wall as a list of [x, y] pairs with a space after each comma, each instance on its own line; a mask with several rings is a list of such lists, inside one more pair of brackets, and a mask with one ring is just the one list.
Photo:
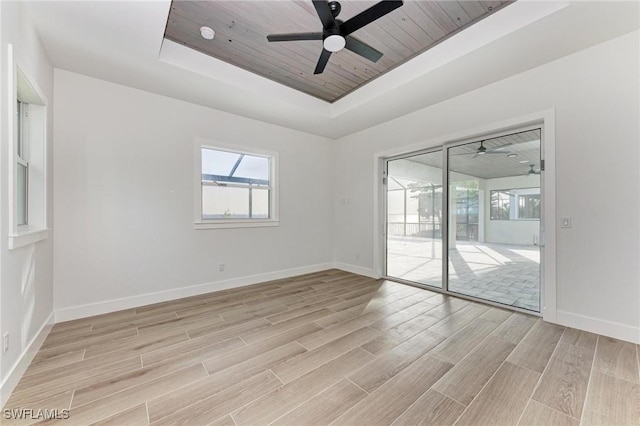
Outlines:
[[123, 309], [131, 309], [139, 306], [150, 305], [152, 303], [166, 302], [183, 297], [197, 296], [199, 294], [206, 294], [214, 291], [227, 290], [230, 288], [242, 287], [251, 284], [258, 284], [265, 281], [279, 280], [296, 275], [310, 274], [313, 272], [331, 269], [333, 267], [333, 263], [321, 263], [317, 265], [303, 266], [300, 268], [283, 269], [280, 271], [267, 272], [264, 274], [249, 275], [246, 277], [232, 278], [229, 280], [197, 284], [188, 287], [180, 287], [171, 290], [159, 291], [156, 293], [141, 294], [138, 296], [125, 297], [122, 299], [112, 299], [104, 302], [90, 303], [87, 305], [70, 306], [68, 308], [57, 309], [55, 311], [55, 317], [56, 322], [70, 321], [78, 318], [86, 318], [94, 315], [121, 311]]

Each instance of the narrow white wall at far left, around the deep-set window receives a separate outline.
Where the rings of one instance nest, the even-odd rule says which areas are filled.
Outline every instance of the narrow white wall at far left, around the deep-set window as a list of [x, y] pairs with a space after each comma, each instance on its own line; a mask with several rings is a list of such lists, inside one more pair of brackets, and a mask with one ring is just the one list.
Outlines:
[[[9, 351], [1, 355], [0, 350], [0, 406], [21, 377], [30, 362], [33, 351], [39, 347], [38, 339], [53, 312], [53, 265], [51, 238], [9, 250], [9, 198], [13, 196], [8, 184], [9, 105], [15, 104], [15, 92], [9, 83], [10, 61], [8, 45], [13, 45], [17, 65], [31, 83], [37, 85], [49, 102], [53, 99], [53, 68], [40, 45], [31, 22], [23, 13], [21, 2], [0, 2], [0, 331], [9, 333]], [[52, 158], [52, 105], [47, 109], [49, 202], [46, 209], [48, 223], [52, 221], [51, 208], [51, 158]]]

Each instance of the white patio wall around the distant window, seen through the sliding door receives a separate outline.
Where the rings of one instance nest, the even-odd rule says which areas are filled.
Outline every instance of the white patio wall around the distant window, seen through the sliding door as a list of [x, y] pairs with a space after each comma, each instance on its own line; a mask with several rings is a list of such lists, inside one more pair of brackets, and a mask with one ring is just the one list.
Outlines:
[[491, 220], [491, 191], [535, 188], [540, 176], [511, 176], [484, 181], [484, 240], [488, 243], [531, 245], [540, 239], [539, 220]]

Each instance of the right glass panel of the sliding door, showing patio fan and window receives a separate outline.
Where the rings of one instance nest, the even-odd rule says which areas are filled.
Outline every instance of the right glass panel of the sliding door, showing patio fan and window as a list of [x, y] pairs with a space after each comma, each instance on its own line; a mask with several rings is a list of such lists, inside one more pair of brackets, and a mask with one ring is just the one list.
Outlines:
[[447, 151], [448, 290], [540, 312], [540, 129]]

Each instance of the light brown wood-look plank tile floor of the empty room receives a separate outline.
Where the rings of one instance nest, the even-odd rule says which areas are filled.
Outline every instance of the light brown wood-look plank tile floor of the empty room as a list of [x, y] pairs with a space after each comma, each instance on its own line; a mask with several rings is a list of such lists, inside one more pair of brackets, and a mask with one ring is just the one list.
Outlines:
[[57, 324], [4, 408], [70, 410], [66, 425], [638, 425], [639, 368], [631, 343], [330, 270]]

